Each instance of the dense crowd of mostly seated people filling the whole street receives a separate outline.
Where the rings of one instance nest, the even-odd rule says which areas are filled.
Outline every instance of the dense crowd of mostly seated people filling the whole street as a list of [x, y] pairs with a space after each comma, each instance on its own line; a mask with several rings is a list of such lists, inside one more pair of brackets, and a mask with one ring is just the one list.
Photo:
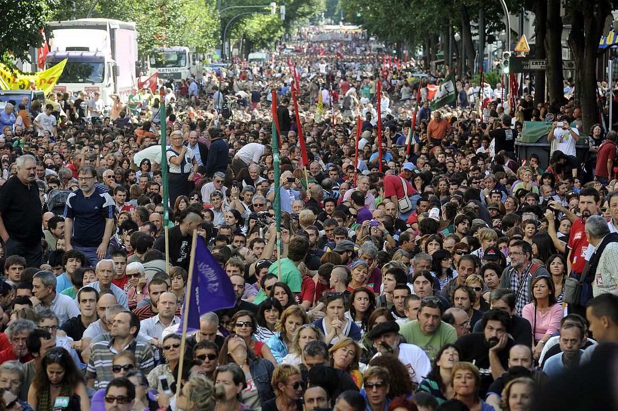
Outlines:
[[[7, 104], [0, 410], [615, 409], [616, 132], [364, 47]], [[194, 233], [236, 303], [182, 345]]]

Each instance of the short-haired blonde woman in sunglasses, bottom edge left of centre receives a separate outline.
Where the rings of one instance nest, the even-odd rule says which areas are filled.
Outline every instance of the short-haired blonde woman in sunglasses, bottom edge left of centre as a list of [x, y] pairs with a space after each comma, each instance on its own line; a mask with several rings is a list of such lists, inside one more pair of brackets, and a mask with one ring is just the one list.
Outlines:
[[276, 397], [262, 404], [262, 411], [302, 411], [303, 384], [300, 370], [282, 364], [273, 372], [271, 381]]

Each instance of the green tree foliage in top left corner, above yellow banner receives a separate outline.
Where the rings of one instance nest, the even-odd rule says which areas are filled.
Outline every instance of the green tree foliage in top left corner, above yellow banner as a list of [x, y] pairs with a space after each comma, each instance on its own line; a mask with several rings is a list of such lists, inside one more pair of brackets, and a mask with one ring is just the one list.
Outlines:
[[15, 67], [15, 60], [30, 61], [30, 48], [40, 47], [41, 28], [56, 9], [56, 0], [0, 0], [0, 62]]

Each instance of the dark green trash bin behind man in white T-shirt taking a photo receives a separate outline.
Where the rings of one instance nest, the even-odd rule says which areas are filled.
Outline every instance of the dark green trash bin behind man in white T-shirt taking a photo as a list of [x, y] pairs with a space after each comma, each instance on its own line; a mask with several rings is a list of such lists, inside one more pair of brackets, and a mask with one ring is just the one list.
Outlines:
[[[547, 136], [551, 131], [553, 122], [526, 121], [523, 123], [522, 132], [515, 138], [515, 154], [520, 161], [530, 159], [530, 155], [539, 156], [539, 165], [546, 169], [549, 167], [549, 153], [551, 143], [547, 141]], [[574, 127], [574, 124], [571, 124]], [[585, 163], [588, 159], [588, 137], [580, 135], [580, 139], [575, 143], [575, 155], [579, 163]]]

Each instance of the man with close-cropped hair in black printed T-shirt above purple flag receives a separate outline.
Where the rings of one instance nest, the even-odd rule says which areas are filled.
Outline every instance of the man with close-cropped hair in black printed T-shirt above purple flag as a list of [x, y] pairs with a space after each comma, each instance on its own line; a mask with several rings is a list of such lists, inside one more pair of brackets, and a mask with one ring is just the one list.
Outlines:
[[[185, 271], [189, 269], [191, 253], [192, 233], [200, 226], [202, 221], [200, 211], [193, 207], [188, 207], [180, 214], [180, 224], [169, 229], [169, 262], [172, 266], [182, 267]], [[165, 236], [160, 235], [155, 240], [153, 250], [165, 253]]]

